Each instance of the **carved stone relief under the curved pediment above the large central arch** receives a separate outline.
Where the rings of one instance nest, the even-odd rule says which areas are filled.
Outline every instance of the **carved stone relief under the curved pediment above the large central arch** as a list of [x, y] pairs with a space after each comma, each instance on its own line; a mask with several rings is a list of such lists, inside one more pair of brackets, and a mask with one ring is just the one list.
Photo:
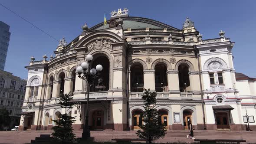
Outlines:
[[90, 42], [87, 47], [90, 50], [92, 49], [102, 49], [102, 48], [107, 48], [111, 49], [111, 44], [112, 41], [108, 39], [96, 39], [95, 41]]

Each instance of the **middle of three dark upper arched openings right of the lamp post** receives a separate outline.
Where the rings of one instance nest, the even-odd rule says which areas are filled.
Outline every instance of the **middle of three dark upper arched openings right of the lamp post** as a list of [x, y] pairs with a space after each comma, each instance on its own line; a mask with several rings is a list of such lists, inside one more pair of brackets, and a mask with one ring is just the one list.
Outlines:
[[156, 92], [168, 92], [166, 65], [163, 62], [159, 62], [155, 65], [154, 70]]

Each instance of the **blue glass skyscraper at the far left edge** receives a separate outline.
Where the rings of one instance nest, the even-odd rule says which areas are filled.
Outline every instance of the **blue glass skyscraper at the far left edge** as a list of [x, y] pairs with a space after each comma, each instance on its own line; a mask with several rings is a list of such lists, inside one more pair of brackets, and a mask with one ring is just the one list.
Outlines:
[[10, 26], [0, 21], [0, 69], [4, 70], [10, 35]]

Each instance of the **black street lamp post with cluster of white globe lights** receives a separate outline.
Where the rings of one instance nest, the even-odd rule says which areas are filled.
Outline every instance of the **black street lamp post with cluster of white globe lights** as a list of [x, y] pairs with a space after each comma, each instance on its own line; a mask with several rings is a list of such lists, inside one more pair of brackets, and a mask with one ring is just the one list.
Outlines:
[[[84, 126], [83, 126], [83, 133], [82, 133], [83, 139], [87, 139], [87, 138], [91, 137], [89, 124], [88, 124], [90, 83], [98, 77], [99, 73], [97, 73], [97, 72], [101, 72], [103, 69], [102, 65], [96, 65], [96, 69], [90, 68], [90, 64], [93, 59], [92, 55], [87, 55], [86, 59], [87, 59], [88, 63], [82, 62], [81, 66], [78, 66], [76, 68], [76, 72], [75, 72], [75, 73], [78, 73], [78, 77], [80, 79], [87, 81], [87, 104], [86, 104], [86, 116], [84, 118]], [[85, 94], [85, 98], [86, 98], [86, 94]]]

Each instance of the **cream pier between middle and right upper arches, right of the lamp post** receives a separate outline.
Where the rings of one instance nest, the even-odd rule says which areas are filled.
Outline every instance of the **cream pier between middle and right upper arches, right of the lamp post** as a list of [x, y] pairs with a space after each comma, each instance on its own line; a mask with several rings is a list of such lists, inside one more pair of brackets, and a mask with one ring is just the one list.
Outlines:
[[167, 81], [169, 92], [173, 94], [180, 93], [179, 85], [179, 71], [178, 70], [167, 70]]

